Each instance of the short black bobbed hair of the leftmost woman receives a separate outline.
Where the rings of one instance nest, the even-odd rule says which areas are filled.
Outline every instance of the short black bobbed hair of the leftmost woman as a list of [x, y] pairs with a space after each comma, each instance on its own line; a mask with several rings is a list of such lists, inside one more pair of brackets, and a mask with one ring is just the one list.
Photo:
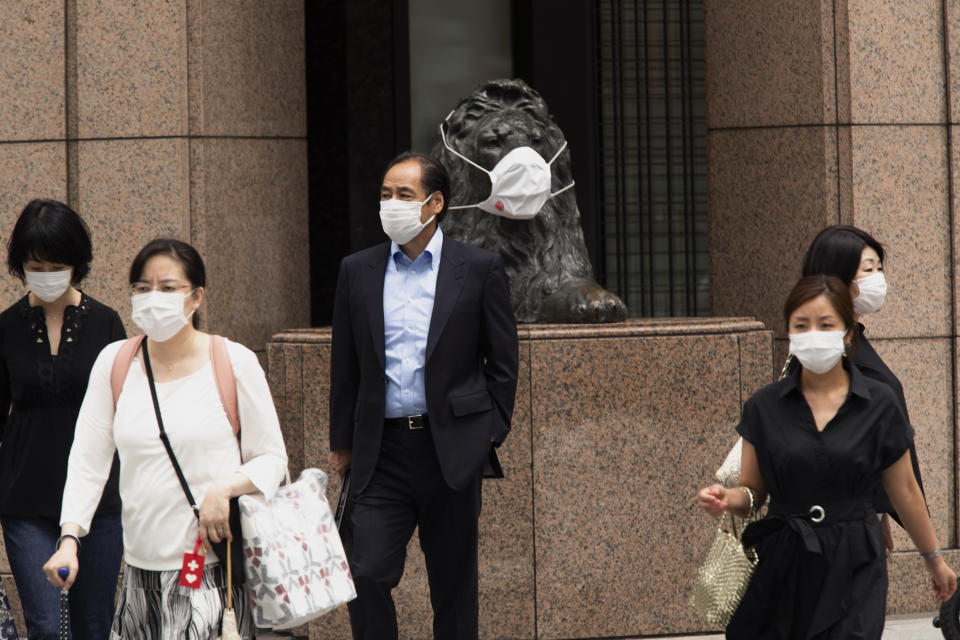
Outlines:
[[73, 284], [83, 280], [93, 260], [90, 229], [83, 218], [62, 202], [31, 200], [7, 242], [7, 269], [22, 281], [23, 263], [31, 259], [68, 264]]

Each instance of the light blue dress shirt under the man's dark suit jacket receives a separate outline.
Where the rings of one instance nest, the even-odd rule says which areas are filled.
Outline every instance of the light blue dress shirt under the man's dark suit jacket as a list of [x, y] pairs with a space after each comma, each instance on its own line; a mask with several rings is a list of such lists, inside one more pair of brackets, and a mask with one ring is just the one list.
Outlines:
[[423, 368], [442, 248], [440, 227], [414, 261], [396, 242], [390, 243], [390, 259], [383, 278], [387, 418], [427, 412]]

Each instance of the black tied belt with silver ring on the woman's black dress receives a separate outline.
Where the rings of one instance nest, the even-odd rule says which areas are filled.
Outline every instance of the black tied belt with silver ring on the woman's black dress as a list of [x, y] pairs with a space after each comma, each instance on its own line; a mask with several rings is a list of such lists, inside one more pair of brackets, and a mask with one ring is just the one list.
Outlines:
[[744, 530], [743, 544], [755, 546], [764, 537], [787, 527], [800, 537], [808, 552], [819, 554], [823, 550], [820, 540], [813, 532], [814, 527], [864, 520], [868, 516], [876, 517], [876, 513], [873, 501], [863, 498], [831, 500], [803, 506], [787, 505], [773, 500], [770, 502], [767, 517], [751, 523]]

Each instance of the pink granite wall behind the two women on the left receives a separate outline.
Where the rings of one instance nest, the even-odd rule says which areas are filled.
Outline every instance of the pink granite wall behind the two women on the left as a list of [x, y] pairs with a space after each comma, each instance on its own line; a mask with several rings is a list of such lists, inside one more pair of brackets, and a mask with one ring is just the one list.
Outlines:
[[[84, 288], [124, 318], [136, 251], [190, 241], [206, 328], [265, 354], [310, 320], [303, 38], [288, 0], [0, 2], [0, 238], [31, 198], [69, 202]], [[0, 308], [22, 294], [0, 278]]]

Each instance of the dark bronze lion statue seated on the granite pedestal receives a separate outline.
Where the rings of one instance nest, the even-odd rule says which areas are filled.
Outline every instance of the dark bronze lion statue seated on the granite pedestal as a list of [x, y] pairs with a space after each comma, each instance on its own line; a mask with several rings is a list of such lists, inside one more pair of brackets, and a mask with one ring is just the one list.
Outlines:
[[[492, 80], [462, 99], [444, 123], [447, 143], [492, 170], [511, 149], [529, 146], [549, 160], [564, 144], [546, 103], [521, 80]], [[432, 155], [450, 174], [450, 205], [490, 195], [490, 178], [451, 153], [438, 134]], [[552, 191], [573, 180], [570, 151], [551, 165]], [[580, 228], [573, 189], [547, 200], [529, 220], [492, 215], [477, 207], [449, 211], [441, 225], [457, 240], [503, 256], [518, 322], [618, 322], [623, 302], [599, 284]]]

